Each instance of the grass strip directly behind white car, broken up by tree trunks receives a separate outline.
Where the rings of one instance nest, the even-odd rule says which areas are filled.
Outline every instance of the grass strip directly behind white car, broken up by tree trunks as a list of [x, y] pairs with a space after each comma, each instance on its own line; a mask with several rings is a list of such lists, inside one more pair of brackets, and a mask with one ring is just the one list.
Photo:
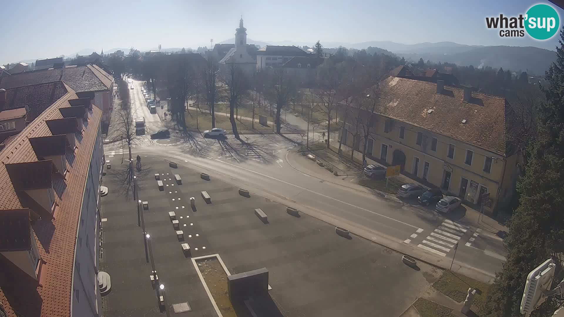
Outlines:
[[[190, 113], [184, 113], [186, 117], [186, 126], [191, 131], [204, 131], [211, 129], [211, 115], [208, 112], [198, 112], [197, 117], [197, 128], [196, 128], [196, 111], [190, 111]], [[229, 117], [224, 115], [215, 115], [215, 127], [221, 127], [227, 130], [228, 133], [232, 132], [231, 121]], [[276, 127], [274, 127], [276, 129]], [[254, 123], [254, 129], [252, 127], [252, 122], [249, 120], [237, 120], [237, 130], [239, 133], [273, 133], [272, 126], [262, 126], [258, 122]]]

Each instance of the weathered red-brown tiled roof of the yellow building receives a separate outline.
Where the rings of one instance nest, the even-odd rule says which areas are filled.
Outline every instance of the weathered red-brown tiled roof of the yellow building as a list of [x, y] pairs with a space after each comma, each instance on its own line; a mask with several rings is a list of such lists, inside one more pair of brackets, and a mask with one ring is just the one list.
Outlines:
[[436, 83], [393, 76], [380, 83], [380, 90], [378, 114], [505, 155], [504, 98], [473, 92], [466, 103], [462, 89], [444, 86], [437, 94]]

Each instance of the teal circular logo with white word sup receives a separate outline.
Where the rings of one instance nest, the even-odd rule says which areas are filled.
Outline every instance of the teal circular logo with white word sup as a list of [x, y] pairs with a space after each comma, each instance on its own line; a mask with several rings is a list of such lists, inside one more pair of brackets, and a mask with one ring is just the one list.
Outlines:
[[525, 15], [525, 29], [535, 39], [549, 39], [558, 32], [558, 12], [549, 5], [534, 5]]

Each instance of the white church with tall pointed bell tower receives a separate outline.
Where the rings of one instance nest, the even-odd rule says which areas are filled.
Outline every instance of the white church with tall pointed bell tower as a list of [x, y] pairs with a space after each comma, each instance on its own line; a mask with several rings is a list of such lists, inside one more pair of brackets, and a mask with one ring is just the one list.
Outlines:
[[[228, 45], [228, 44], [227, 44]], [[215, 47], [214, 47], [215, 50]], [[239, 28], [235, 29], [235, 47], [232, 47], [227, 54], [219, 61], [221, 68], [235, 65], [243, 69], [246, 74], [252, 75], [257, 68], [256, 57], [249, 54], [246, 43], [246, 28], [243, 26], [243, 18], [239, 20]]]

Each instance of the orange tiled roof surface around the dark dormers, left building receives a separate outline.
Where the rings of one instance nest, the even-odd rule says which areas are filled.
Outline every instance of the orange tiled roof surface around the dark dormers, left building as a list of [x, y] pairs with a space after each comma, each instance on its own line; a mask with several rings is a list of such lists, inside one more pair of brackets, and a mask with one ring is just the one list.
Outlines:
[[[2, 162], [0, 164], [0, 210], [23, 208], [14, 191], [5, 164], [37, 161], [29, 138], [52, 135], [45, 121], [63, 118], [59, 108], [70, 107], [68, 100], [78, 98], [70, 87], [67, 86], [67, 90], [69, 91], [67, 94], [25, 127], [0, 152]], [[69, 173], [66, 179], [53, 179], [54, 190], [58, 193], [55, 195], [58, 206], [54, 218], [44, 217], [33, 224], [39, 256], [45, 261], [41, 268], [39, 281], [23, 279], [19, 280], [19, 283], [12, 283], [10, 275], [12, 273], [20, 274], [20, 270], [17, 268], [0, 270], [0, 303], [10, 317], [16, 316], [14, 311], [26, 317], [70, 316], [75, 238], [87, 170], [98, 137], [101, 118], [100, 109], [93, 107], [89, 110], [90, 124], [83, 132], [82, 142], [76, 150], [73, 164], [67, 164]], [[0, 255], [0, 266], [5, 262], [9, 261]], [[12, 272], [14, 270], [15, 272]]]

